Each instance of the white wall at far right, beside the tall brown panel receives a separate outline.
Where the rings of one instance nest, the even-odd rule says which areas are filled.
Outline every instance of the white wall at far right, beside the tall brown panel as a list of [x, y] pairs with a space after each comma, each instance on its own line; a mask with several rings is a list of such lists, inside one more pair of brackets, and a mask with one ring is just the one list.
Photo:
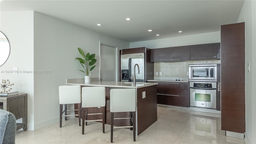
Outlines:
[[[237, 22], [245, 22], [245, 98], [246, 133], [248, 144], [256, 144], [256, 1], [245, 0]], [[248, 72], [250, 63], [250, 72]]]

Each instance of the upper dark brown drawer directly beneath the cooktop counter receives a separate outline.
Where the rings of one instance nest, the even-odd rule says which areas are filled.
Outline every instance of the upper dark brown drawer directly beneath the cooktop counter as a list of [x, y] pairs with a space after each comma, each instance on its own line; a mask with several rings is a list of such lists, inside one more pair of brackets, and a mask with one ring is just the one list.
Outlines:
[[189, 94], [188, 82], [158, 82], [157, 93], [160, 94]]

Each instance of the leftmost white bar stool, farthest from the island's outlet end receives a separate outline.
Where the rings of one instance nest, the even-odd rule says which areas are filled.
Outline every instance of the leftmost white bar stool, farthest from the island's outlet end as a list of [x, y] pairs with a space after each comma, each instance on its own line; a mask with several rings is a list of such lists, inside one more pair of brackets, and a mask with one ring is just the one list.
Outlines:
[[[62, 117], [65, 117], [67, 120], [67, 116], [78, 116], [79, 126], [81, 126], [81, 87], [66, 85], [59, 86], [59, 98], [60, 98], [60, 128], [62, 127]], [[64, 111], [62, 111], [63, 104], [65, 105]], [[78, 104], [78, 109], [68, 110], [67, 104]], [[78, 111], [78, 114], [67, 114], [67, 111]], [[65, 114], [63, 115], [63, 113]]]

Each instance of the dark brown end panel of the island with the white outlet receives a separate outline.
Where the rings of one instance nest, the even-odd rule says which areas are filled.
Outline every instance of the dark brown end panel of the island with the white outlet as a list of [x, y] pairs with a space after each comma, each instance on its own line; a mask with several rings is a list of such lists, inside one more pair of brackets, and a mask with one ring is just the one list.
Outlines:
[[[142, 92], [146, 98], [142, 98]], [[138, 135], [157, 121], [156, 85], [137, 89], [137, 126]]]

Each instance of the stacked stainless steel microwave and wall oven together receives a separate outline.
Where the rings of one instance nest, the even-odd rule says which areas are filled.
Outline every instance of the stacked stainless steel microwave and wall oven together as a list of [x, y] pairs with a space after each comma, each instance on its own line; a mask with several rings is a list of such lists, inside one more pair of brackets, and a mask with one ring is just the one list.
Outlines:
[[190, 107], [217, 108], [217, 64], [189, 65]]

